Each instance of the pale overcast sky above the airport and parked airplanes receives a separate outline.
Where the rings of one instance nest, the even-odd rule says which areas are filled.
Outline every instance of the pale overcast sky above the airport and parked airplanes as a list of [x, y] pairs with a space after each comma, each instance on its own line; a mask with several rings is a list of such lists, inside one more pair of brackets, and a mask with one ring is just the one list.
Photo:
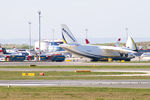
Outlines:
[[[38, 11], [42, 13], [42, 39], [61, 38], [60, 25], [67, 24], [80, 40], [150, 38], [150, 0], [0, 0], [0, 39], [38, 39]], [[137, 40], [138, 41], [138, 40]], [[106, 41], [108, 42], [108, 41]], [[112, 41], [111, 41], [112, 42]]]

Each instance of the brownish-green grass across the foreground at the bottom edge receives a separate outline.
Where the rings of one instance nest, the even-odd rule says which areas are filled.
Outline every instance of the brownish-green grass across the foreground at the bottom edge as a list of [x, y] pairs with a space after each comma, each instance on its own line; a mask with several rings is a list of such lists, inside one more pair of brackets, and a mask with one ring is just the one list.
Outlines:
[[0, 100], [150, 100], [150, 89], [0, 87]]

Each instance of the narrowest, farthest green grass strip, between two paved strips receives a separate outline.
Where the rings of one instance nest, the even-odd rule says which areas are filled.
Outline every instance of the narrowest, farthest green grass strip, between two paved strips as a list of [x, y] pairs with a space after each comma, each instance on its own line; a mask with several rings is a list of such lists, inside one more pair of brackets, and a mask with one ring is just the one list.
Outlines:
[[128, 65], [92, 65], [92, 66], [0, 66], [0, 68], [100, 68], [100, 69], [124, 69], [124, 68], [150, 68], [150, 65], [134, 65], [134, 66], [128, 66]]

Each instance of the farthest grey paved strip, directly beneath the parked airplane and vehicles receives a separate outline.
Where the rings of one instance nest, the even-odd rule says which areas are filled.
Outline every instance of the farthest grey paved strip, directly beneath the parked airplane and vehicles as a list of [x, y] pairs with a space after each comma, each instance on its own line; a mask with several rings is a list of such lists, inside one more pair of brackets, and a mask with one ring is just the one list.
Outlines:
[[122, 65], [122, 66], [138, 66], [149, 65], [150, 63], [103, 63], [103, 62], [0, 62], [0, 66], [96, 66], [96, 65]]

